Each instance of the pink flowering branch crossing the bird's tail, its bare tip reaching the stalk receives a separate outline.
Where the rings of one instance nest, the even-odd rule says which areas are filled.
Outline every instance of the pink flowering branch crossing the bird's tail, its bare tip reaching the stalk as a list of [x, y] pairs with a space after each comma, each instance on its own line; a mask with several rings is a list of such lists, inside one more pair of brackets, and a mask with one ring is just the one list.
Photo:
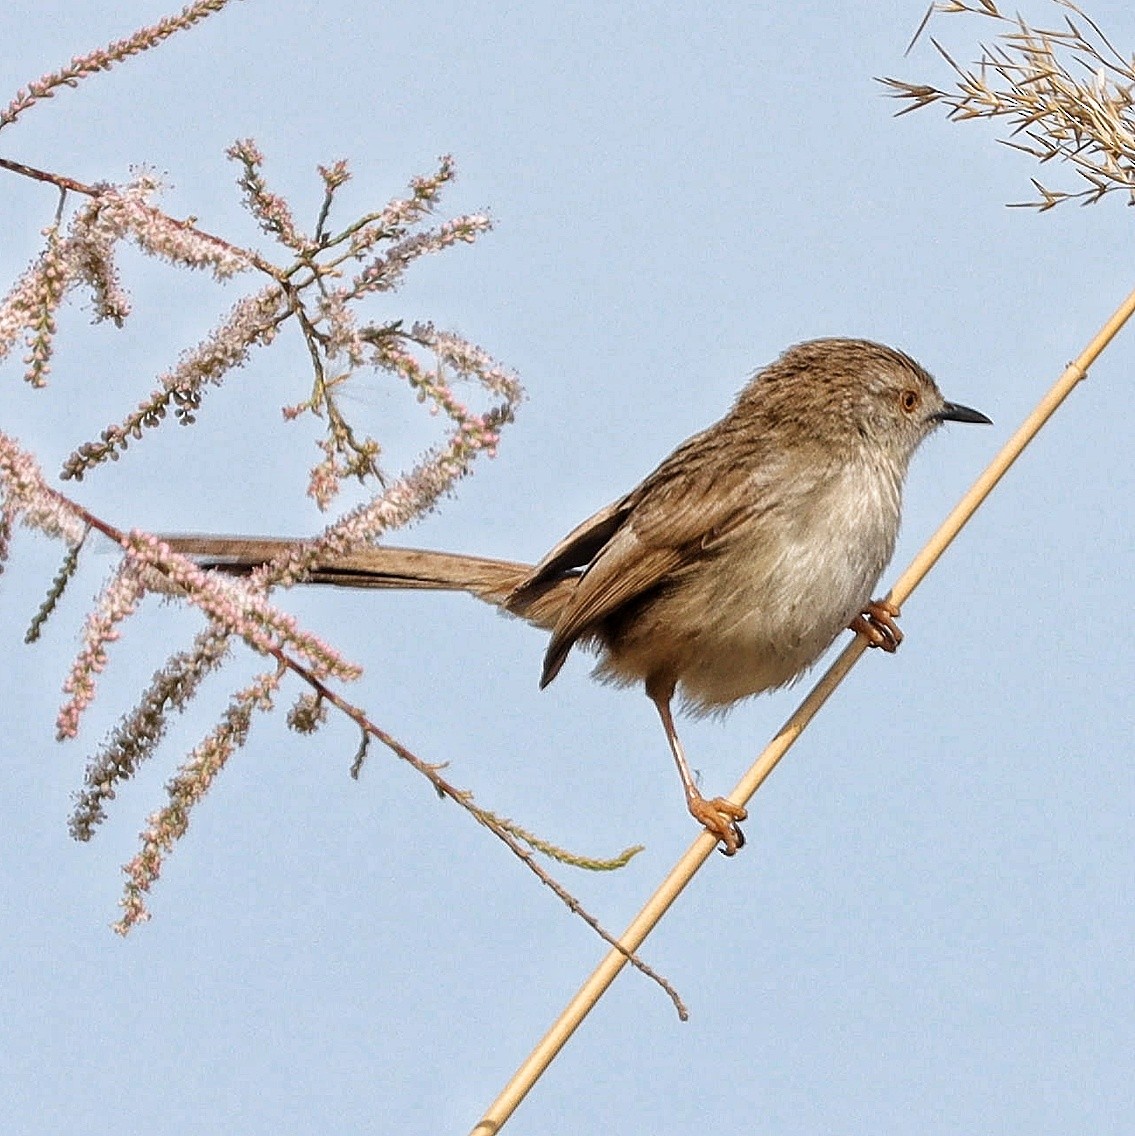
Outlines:
[[[253, 574], [248, 580], [226, 579], [203, 573], [192, 561], [172, 552], [157, 537], [143, 533], [123, 533], [101, 518], [69, 501], [43, 481], [34, 459], [26, 454], [11, 437], [0, 432], [0, 496], [7, 509], [36, 527], [51, 527], [58, 532], [74, 532], [75, 525], [98, 529], [115, 541], [126, 553], [126, 559], [103, 588], [98, 605], [87, 618], [83, 646], [65, 683], [70, 695], [59, 715], [57, 732], [60, 737], [77, 733], [83, 709], [94, 696], [94, 678], [107, 663], [107, 645], [117, 638], [118, 625], [137, 607], [144, 592], [158, 579], [172, 585], [199, 607], [210, 620], [210, 629], [199, 636], [197, 650], [175, 657], [155, 676], [150, 691], [130, 719], [120, 724], [100, 759], [87, 768], [86, 790], [80, 794], [72, 818], [72, 832], [89, 840], [94, 826], [105, 817], [105, 803], [112, 799], [115, 786], [133, 775], [141, 760], [148, 757], [165, 733], [165, 712], [168, 707], [183, 709], [195, 692], [201, 678], [214, 669], [227, 650], [232, 635], [241, 636], [258, 653], [272, 658], [276, 669], [261, 675], [251, 686], [237, 692], [220, 724], [190, 753], [174, 779], [167, 786], [169, 801], [156, 812], [142, 835], [141, 852], [126, 866], [127, 885], [123, 899], [124, 914], [115, 925], [125, 934], [136, 922], [149, 918], [144, 894], [157, 880], [166, 854], [177, 838], [187, 830], [193, 805], [205, 795], [214, 778], [232, 753], [244, 744], [253, 710], [272, 708], [272, 694], [283, 675], [291, 671], [314, 692], [316, 702], [334, 705], [354, 721], [367, 737], [381, 742], [403, 761], [423, 774], [437, 793], [469, 812], [478, 824], [501, 840], [543, 884], [550, 887], [568, 907], [579, 914], [612, 945], [615, 939], [582, 908], [577, 900], [552, 878], [532, 858], [524, 845], [535, 847], [553, 859], [592, 870], [621, 867], [640, 849], [627, 849], [614, 859], [596, 860], [567, 853], [556, 845], [527, 833], [515, 822], [501, 818], [478, 805], [471, 793], [461, 790], [441, 775], [441, 766], [431, 765], [416, 757], [392, 735], [375, 725], [364, 710], [349, 702], [331, 686], [329, 677], [353, 678], [358, 668], [345, 663], [326, 644], [301, 630], [294, 620], [273, 608], [264, 592], [281, 575], [279, 569]], [[372, 527], [381, 513], [368, 518]], [[398, 506], [392, 504], [390, 519], [397, 519]], [[75, 523], [62, 524], [62, 518]], [[342, 532], [336, 534], [344, 540]], [[331, 540], [331, 537], [328, 537]], [[314, 544], [312, 548], [326, 544]], [[297, 561], [289, 561], [294, 566]], [[166, 590], [165, 587], [162, 590]], [[310, 732], [317, 725], [314, 703], [307, 700], [301, 707], [298, 725]], [[670, 991], [665, 979], [654, 975], [640, 960], [632, 960], [650, 977]], [[681, 1002], [677, 1004], [681, 1009]]]

